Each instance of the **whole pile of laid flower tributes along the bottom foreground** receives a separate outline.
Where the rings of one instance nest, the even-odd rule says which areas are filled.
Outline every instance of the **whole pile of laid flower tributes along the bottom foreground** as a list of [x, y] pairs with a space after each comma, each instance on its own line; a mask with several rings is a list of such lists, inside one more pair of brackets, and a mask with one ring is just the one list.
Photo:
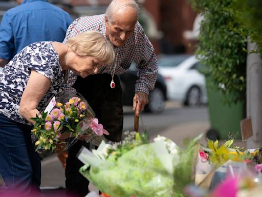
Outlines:
[[79, 171], [102, 191], [88, 197], [261, 196], [262, 148], [244, 150], [233, 139], [203, 146], [199, 135], [182, 149], [163, 136], [149, 143], [146, 132], [125, 134], [79, 154]]

